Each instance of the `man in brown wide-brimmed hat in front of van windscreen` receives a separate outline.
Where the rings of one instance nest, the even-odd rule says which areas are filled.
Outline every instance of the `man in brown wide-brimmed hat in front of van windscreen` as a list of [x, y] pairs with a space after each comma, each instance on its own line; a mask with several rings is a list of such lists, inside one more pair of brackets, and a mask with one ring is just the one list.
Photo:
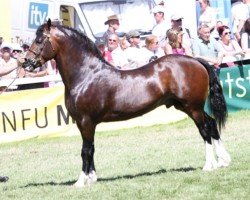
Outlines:
[[111, 34], [116, 34], [116, 31], [119, 29], [120, 23], [117, 15], [111, 15], [108, 17], [107, 21], [104, 22], [105, 25], [108, 25], [108, 30], [103, 34], [103, 41], [106, 46], [108, 46], [108, 38]]

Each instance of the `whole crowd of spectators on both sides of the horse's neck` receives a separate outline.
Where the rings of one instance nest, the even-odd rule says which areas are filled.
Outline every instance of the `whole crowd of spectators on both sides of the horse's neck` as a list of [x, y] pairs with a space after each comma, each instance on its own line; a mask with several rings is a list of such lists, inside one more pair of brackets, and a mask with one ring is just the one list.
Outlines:
[[[152, 8], [155, 25], [152, 34], [141, 38], [137, 30], [128, 30], [119, 37], [120, 21], [116, 14], [107, 17], [104, 25], [107, 30], [96, 45], [105, 60], [120, 69], [134, 69], [167, 54], [181, 54], [203, 58], [215, 68], [221, 63], [234, 66], [234, 61], [242, 60], [250, 54], [250, 0], [238, 0], [232, 4], [232, 26], [216, 18], [216, 11], [209, 0], [196, 0], [200, 5], [197, 36], [192, 36], [188, 27], [183, 26], [183, 16], [174, 13], [170, 20], [165, 19], [167, 7], [159, 1]], [[29, 44], [1, 45], [0, 67], [16, 66], [16, 60], [25, 54]], [[14, 67], [11, 73], [1, 78], [41, 77], [56, 74], [56, 63], [50, 61], [34, 72], [26, 72]], [[17, 89], [48, 87], [53, 83], [21, 85]], [[15, 89], [15, 88], [14, 88]]]

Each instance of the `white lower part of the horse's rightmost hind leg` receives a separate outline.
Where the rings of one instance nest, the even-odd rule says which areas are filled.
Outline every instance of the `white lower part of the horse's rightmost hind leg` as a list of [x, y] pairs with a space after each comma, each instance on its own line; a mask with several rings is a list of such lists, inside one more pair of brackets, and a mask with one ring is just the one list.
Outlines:
[[216, 155], [218, 157], [218, 167], [227, 167], [231, 162], [231, 157], [223, 146], [221, 140], [214, 140]]

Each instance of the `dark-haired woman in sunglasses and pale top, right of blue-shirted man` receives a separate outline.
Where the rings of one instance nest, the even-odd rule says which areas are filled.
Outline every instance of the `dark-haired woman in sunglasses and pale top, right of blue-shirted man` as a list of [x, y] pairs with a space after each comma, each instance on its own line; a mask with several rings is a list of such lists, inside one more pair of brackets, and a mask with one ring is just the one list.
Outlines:
[[228, 26], [220, 26], [218, 28], [220, 40], [218, 41], [222, 53], [224, 54], [223, 63], [228, 63], [229, 66], [234, 66], [234, 61], [241, 60], [245, 53], [241, 49], [239, 43], [231, 39], [231, 31]]

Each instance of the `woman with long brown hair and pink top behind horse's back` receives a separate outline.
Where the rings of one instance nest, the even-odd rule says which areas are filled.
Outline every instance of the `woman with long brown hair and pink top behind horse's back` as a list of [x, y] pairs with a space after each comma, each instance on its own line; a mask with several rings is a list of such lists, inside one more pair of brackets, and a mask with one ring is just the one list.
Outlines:
[[167, 31], [168, 42], [165, 45], [165, 54], [179, 54], [192, 56], [192, 51], [183, 43], [182, 29], [179, 31], [170, 29]]

